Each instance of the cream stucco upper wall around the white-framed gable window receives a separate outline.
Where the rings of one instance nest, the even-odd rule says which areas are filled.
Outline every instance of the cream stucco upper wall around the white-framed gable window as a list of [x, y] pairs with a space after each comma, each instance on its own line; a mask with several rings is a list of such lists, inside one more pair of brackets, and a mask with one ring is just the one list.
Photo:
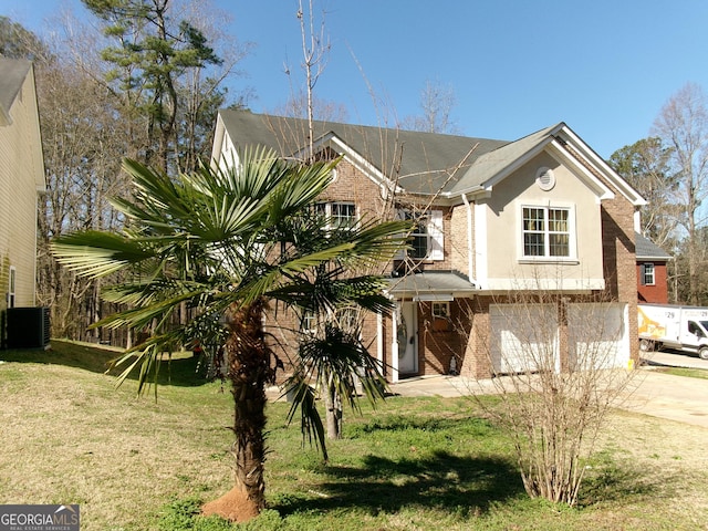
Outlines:
[[[539, 168], [551, 168], [555, 184], [550, 190], [537, 184]], [[529, 259], [523, 257], [523, 207], [564, 208], [569, 210], [571, 231], [570, 256], [566, 258]], [[476, 242], [483, 237], [486, 252], [477, 249], [478, 260], [486, 261], [487, 271], [478, 266], [478, 278], [486, 289], [563, 289], [604, 288], [602, 263], [601, 206], [596, 190], [581, 177], [543, 153], [514, 174], [494, 185], [489, 198], [475, 209]], [[479, 221], [483, 222], [479, 222]], [[480, 235], [480, 230], [485, 235]]]

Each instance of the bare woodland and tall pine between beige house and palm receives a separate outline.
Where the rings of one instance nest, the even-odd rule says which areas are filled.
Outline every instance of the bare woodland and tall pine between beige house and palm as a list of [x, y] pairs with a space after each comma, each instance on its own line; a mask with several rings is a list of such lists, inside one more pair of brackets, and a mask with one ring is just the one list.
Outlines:
[[90, 20], [64, 18], [49, 39], [0, 17], [0, 54], [34, 64], [48, 190], [38, 304], [51, 309], [52, 336], [125, 345], [125, 333], [90, 330], [115, 308], [100, 299], [101, 281], [62, 269], [50, 242], [125, 227], [111, 205], [128, 194], [124, 157], [171, 175], [209, 157], [218, 110], [247, 100], [246, 92], [229, 95], [226, 81], [248, 44], [228, 37], [219, 25], [225, 13], [199, 0], [83, 3]]

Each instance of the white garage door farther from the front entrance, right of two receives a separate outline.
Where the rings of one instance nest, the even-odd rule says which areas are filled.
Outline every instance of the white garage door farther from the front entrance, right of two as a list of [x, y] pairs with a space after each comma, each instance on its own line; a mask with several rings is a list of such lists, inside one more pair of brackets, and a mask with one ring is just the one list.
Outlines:
[[569, 304], [571, 367], [626, 367], [629, 335], [626, 304]]

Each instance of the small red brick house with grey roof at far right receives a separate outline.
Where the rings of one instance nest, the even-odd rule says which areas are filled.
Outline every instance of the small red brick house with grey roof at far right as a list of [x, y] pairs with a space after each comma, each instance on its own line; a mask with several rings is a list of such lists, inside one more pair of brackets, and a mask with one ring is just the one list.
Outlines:
[[668, 304], [666, 263], [673, 259], [664, 249], [641, 233], [635, 235], [637, 256], [637, 299]]

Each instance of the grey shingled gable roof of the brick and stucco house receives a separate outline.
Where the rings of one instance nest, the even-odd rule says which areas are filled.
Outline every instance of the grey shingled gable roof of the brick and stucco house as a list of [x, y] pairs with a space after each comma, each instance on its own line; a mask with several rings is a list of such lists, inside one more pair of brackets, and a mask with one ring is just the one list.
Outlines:
[[[226, 132], [236, 149], [258, 144], [273, 148], [281, 156], [298, 156], [303, 153], [309, 136], [308, 122], [302, 118], [221, 110], [219, 121], [215, 145], [220, 145], [220, 135]], [[221, 124], [225, 131], [220, 132]], [[313, 126], [316, 147], [333, 143], [337, 153], [360, 160], [360, 167], [365, 167], [375, 180], [388, 180], [412, 194], [449, 199], [464, 194], [488, 192], [521, 164], [548, 149], [574, 166], [598, 197], [612, 197], [613, 194], [597, 174], [633, 205], [646, 204], [562, 122], [513, 142], [336, 122], [315, 121]]]

